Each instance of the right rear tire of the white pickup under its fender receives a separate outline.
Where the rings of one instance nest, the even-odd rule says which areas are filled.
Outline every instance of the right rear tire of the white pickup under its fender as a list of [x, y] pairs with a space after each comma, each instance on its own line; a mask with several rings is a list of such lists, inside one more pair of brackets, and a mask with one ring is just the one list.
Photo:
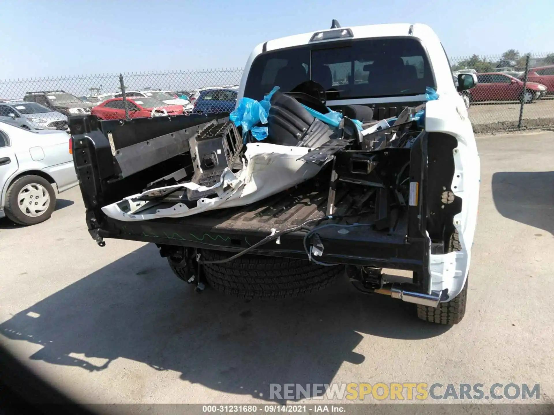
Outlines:
[[[450, 237], [448, 252], [460, 251], [461, 244], [458, 230], [454, 231]], [[458, 324], [465, 315], [465, 304], [468, 297], [469, 275], [465, 280], [464, 288], [452, 300], [447, 303], [439, 303], [438, 307], [429, 307], [427, 305], [417, 305], [417, 317], [438, 324]]]

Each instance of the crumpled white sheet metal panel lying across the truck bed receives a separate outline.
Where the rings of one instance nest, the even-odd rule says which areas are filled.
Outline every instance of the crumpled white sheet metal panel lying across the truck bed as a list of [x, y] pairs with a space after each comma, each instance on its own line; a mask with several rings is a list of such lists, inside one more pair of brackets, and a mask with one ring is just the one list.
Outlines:
[[[121, 221], [190, 216], [207, 210], [254, 203], [311, 179], [321, 170], [321, 167], [314, 163], [298, 160], [302, 155], [311, 151], [307, 147], [279, 146], [268, 143], [249, 143], [246, 146], [247, 150], [244, 155], [248, 160], [247, 165], [237, 173], [231, 172], [228, 168], [225, 169], [219, 183], [209, 188], [196, 183], [182, 183], [151, 189], [104, 206], [102, 211], [107, 216]], [[199, 199], [197, 206], [191, 208], [183, 203], [176, 203], [165, 209], [156, 209], [155, 212], [133, 213], [143, 204], [137, 204], [135, 199], [139, 196], [171, 188], [188, 188], [199, 191], [213, 189], [216, 191], [217, 197]], [[123, 204], [127, 204], [126, 201], [131, 205], [131, 210], [128, 212], [121, 209]]]

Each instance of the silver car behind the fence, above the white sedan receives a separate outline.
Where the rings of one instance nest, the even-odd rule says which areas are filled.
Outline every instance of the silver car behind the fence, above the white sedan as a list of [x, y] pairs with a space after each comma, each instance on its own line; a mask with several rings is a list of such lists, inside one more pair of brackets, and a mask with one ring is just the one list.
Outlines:
[[7, 101], [0, 103], [0, 121], [27, 129], [69, 131], [68, 117], [36, 102]]

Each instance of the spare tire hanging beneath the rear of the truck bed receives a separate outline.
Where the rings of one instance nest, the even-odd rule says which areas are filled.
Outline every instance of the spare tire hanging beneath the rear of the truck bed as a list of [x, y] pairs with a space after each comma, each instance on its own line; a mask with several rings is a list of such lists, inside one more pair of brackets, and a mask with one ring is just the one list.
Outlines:
[[[202, 250], [206, 261], [223, 260], [232, 255]], [[345, 267], [341, 265], [327, 267], [307, 260], [248, 254], [230, 262], [204, 265], [204, 276], [212, 288], [241, 298], [301, 297], [330, 286], [344, 272]]]

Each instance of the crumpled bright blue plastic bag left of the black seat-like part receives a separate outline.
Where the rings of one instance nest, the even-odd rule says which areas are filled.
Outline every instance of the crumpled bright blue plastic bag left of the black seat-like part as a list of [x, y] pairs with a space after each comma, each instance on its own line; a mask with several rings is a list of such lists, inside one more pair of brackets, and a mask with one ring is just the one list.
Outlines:
[[[258, 122], [262, 124], [268, 122], [268, 113], [271, 107], [269, 100], [278, 89], [279, 87], [275, 86], [261, 101], [247, 97], [240, 98], [237, 109], [229, 114], [229, 120], [233, 121], [237, 127], [242, 126], [243, 138], [246, 137], [246, 133], [253, 129]], [[257, 140], [263, 140], [268, 136], [267, 127], [261, 128], [265, 128], [265, 136], [263, 130], [260, 129], [256, 130], [256, 136], [254, 136], [254, 132], [252, 133]]]

